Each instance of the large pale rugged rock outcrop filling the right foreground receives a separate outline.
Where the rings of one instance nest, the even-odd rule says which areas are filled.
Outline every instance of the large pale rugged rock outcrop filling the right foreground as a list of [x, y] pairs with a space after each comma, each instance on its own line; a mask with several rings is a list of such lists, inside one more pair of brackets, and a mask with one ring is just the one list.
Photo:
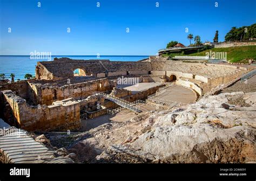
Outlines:
[[[124, 156], [116, 156], [122, 154], [154, 163], [254, 162], [255, 96], [256, 93], [243, 92], [213, 95], [185, 110], [155, 113], [142, 123], [146, 130], [130, 134], [130, 141], [111, 146], [97, 159], [122, 159]], [[232, 105], [234, 100], [239, 101]]]

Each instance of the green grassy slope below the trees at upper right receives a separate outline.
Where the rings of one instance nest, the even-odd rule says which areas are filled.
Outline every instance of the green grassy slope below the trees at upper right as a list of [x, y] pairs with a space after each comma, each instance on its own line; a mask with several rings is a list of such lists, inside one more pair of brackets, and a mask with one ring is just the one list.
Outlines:
[[237, 62], [244, 59], [256, 60], [256, 45], [253, 46], [235, 46], [227, 48], [211, 48], [209, 50], [192, 53], [191, 56], [205, 56], [206, 52], [227, 52], [227, 60]]

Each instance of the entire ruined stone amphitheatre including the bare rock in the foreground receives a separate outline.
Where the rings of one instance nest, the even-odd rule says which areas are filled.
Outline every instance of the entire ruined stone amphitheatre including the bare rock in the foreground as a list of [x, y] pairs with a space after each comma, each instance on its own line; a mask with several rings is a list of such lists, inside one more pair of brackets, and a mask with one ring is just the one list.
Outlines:
[[[0, 117], [21, 128], [31, 144], [41, 135], [45, 149], [32, 152], [17, 138], [11, 147], [21, 150], [14, 156], [5, 135], [0, 137], [0, 161], [254, 162], [255, 91], [225, 92], [253, 70], [159, 56], [39, 61], [36, 79], [0, 85]], [[135, 83], [120, 84], [118, 79]], [[26, 151], [35, 159], [28, 161]]]

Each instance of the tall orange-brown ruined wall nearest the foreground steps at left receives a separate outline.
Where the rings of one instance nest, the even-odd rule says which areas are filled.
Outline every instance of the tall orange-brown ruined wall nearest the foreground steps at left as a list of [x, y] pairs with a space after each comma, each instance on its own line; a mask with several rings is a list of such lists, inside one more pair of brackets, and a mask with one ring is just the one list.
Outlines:
[[80, 107], [74, 102], [67, 105], [29, 106], [26, 100], [12, 91], [3, 91], [12, 108], [19, 128], [33, 130], [75, 130], [80, 128]]

